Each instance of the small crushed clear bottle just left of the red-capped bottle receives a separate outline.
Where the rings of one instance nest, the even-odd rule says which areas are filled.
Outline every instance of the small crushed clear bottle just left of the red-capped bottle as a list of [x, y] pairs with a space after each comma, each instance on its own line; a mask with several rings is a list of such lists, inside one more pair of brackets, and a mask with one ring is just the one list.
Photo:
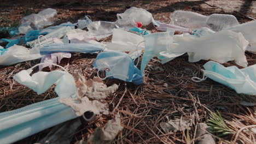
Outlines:
[[115, 22], [94, 21], [87, 27], [90, 35], [112, 34], [114, 28], [119, 28]]

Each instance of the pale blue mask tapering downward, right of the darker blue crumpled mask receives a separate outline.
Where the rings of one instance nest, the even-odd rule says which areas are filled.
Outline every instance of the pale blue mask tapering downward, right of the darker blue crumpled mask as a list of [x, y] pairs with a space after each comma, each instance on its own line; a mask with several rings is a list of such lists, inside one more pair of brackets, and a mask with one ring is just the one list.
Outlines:
[[160, 52], [166, 51], [167, 43], [172, 42], [172, 37], [174, 32], [161, 32], [161, 33], [153, 33], [144, 35], [145, 40], [145, 51], [143, 53], [142, 61], [141, 61], [141, 72], [144, 72], [147, 64], [150, 59], [157, 56]]

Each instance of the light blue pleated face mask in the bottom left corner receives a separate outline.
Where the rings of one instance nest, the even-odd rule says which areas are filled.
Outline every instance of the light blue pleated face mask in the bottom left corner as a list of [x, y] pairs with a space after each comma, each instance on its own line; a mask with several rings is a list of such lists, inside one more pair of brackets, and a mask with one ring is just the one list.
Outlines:
[[0, 143], [13, 143], [78, 117], [71, 107], [61, 104], [59, 99], [0, 113]]

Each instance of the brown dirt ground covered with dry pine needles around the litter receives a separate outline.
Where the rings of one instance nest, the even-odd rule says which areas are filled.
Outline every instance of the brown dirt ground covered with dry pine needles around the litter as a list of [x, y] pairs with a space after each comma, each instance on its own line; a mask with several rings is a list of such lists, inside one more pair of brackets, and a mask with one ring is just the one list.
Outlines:
[[[77, 22], [84, 15], [90, 15], [92, 21], [115, 21], [117, 14], [123, 13], [130, 7], [139, 7], [152, 13], [155, 20], [170, 22], [170, 14], [174, 10], [194, 11], [203, 15], [213, 13], [232, 14], [240, 23], [256, 18], [256, 1], [242, 0], [204, 0], [204, 1], [39, 1], [2, 0], [0, 4], [0, 26], [18, 25], [19, 20], [31, 13], [37, 13], [45, 8], [57, 10], [59, 21]], [[157, 32], [153, 26], [147, 26], [152, 32]], [[106, 39], [105, 41], [109, 41]], [[2, 45], [2, 44], [1, 44]], [[80, 73], [91, 78], [96, 71], [91, 69], [97, 55], [72, 53], [72, 57], [64, 63], [69, 63], [69, 73]], [[256, 55], [246, 52], [248, 65], [256, 63]], [[156, 58], [155, 58], [156, 59]], [[0, 66], [0, 112], [18, 109], [38, 101], [56, 97], [53, 88], [44, 94], [37, 95], [31, 89], [21, 86], [12, 76], [22, 69], [28, 69], [39, 63], [40, 60], [22, 62], [10, 66]], [[241, 101], [256, 103], [255, 95], [237, 94], [234, 90], [207, 79], [195, 83], [191, 77], [202, 77], [202, 65], [207, 61], [196, 63], [188, 62], [188, 56], [173, 59], [166, 64], [155, 60], [150, 65], [160, 69], [146, 69], [144, 83], [139, 86], [125, 84], [119, 80], [105, 80], [106, 85], [119, 84], [114, 95], [107, 98], [110, 110], [119, 103], [118, 112], [121, 113], [121, 122], [124, 129], [118, 134], [113, 143], [195, 143], [195, 128], [198, 123], [207, 123], [209, 113], [219, 111], [225, 123], [234, 134], [224, 137], [216, 136], [218, 143], [235, 143], [234, 137], [238, 130], [248, 125], [256, 124], [254, 106], [241, 105]], [[236, 65], [234, 61], [223, 64]], [[236, 65], [237, 66], [237, 65]], [[241, 68], [237, 66], [238, 68]], [[167, 83], [167, 87], [163, 87]], [[127, 91], [125, 91], [125, 89]], [[123, 97], [124, 95], [124, 97]], [[89, 124], [83, 124], [73, 135], [71, 143], [88, 139], [97, 126], [104, 127], [108, 119], [113, 116], [102, 116]], [[168, 117], [168, 118], [167, 118]], [[191, 127], [186, 131], [165, 133], [160, 122], [167, 119], [186, 118]], [[16, 143], [35, 143], [42, 139], [50, 129], [27, 137]], [[241, 131], [237, 143], [255, 143], [256, 134], [250, 131]]]

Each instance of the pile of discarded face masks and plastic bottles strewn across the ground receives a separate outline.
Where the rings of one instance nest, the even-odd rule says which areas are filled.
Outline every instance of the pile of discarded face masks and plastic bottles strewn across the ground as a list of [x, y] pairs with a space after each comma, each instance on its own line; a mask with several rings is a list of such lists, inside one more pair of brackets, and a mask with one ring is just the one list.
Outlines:
[[[58, 20], [57, 11], [51, 8], [23, 17], [13, 38], [1, 39], [8, 44], [0, 47], [0, 65], [41, 59], [39, 64], [21, 70], [13, 78], [37, 94], [55, 84], [59, 97], [0, 113], [0, 142], [15, 142], [77, 117], [91, 121], [100, 113], [108, 115], [104, 99], [117, 91], [118, 85], [107, 87], [102, 80], [119, 79], [141, 85], [144, 70], [154, 57], [162, 64], [184, 53], [188, 54], [189, 62], [209, 60], [203, 65], [202, 79], [191, 77], [193, 81], [200, 82], [208, 77], [237, 93], [256, 95], [256, 65], [247, 67], [245, 56], [245, 51], [256, 53], [256, 21], [239, 24], [233, 15], [204, 16], [182, 10], [174, 11], [170, 19], [171, 23], [155, 21], [147, 10], [135, 7], [117, 14], [115, 22], [91, 21], [90, 16], [85, 16], [77, 23], [50, 26]], [[147, 25], [162, 32], [150, 33], [141, 28]], [[174, 35], [175, 31], [182, 34]], [[21, 34], [25, 35], [15, 36]], [[110, 35], [111, 43], [99, 42]], [[93, 64], [97, 77], [85, 80], [58, 65], [62, 58], [71, 58], [72, 52], [98, 53]], [[235, 61], [243, 69], [224, 67], [222, 63], [228, 61]], [[137, 67], [139, 62], [140, 68]], [[31, 75], [37, 66], [39, 71]], [[53, 70], [53, 66], [62, 70]], [[51, 71], [42, 71], [46, 67]], [[100, 71], [104, 71], [105, 77], [100, 77]], [[89, 118], [88, 112], [92, 113]], [[117, 114], [104, 130], [96, 130], [89, 141], [100, 135], [101, 143], [110, 142], [121, 129]]]

